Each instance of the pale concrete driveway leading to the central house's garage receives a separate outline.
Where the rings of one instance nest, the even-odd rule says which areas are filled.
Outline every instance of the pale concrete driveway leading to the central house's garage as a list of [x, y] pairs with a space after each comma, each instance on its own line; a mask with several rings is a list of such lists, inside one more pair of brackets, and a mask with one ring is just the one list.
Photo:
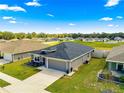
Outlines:
[[61, 78], [65, 73], [52, 69], [43, 71], [23, 80], [20, 83], [5, 87], [10, 93], [50, 93], [45, 91], [49, 85]]

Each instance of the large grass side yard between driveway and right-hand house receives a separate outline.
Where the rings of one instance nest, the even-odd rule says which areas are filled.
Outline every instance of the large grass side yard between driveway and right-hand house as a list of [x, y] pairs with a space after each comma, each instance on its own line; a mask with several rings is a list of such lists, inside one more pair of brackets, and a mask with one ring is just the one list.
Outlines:
[[82, 65], [72, 77], [64, 76], [46, 90], [52, 93], [101, 93], [102, 90], [112, 89], [115, 93], [124, 93], [123, 86], [98, 81], [97, 73], [105, 64], [105, 59], [92, 58], [89, 64]]

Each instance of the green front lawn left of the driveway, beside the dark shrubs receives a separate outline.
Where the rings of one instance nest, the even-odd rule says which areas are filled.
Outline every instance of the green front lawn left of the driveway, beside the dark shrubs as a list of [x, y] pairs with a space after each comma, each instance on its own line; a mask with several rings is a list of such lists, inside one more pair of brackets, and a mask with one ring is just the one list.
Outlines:
[[36, 68], [26, 65], [26, 63], [29, 61], [30, 59], [28, 58], [17, 62], [5, 64], [5, 68], [4, 70], [1, 70], [1, 72], [13, 76], [17, 79], [24, 80], [39, 72], [39, 70], [37, 70]]

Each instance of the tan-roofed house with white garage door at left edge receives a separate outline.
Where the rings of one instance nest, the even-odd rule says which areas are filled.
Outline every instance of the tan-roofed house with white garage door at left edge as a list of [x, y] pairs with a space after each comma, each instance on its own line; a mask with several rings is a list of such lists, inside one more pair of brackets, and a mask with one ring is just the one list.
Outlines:
[[17, 61], [26, 57], [31, 57], [32, 52], [47, 47], [38, 41], [17, 40], [0, 43], [0, 55], [4, 60]]

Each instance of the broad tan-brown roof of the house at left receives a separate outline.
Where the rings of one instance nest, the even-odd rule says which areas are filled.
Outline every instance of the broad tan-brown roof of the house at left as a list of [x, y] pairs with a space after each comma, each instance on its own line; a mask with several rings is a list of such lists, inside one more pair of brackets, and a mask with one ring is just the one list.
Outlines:
[[0, 43], [1, 52], [13, 54], [36, 51], [46, 47], [48, 45], [43, 44], [43, 42], [32, 40], [16, 40]]

